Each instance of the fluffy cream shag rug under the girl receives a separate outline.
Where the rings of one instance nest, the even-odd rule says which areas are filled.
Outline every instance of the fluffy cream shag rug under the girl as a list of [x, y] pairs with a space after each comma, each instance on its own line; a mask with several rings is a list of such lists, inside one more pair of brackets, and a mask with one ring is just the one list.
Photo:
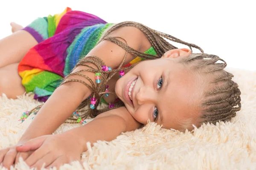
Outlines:
[[[256, 72], [226, 68], [241, 89], [242, 109], [231, 122], [202, 125], [192, 132], [145, 127], [120, 134], [112, 142], [99, 141], [78, 161], [60, 169], [85, 170], [176, 170], [256, 169]], [[0, 97], [0, 148], [16, 144], [32, 120], [17, 121], [24, 111], [39, 105], [33, 94], [18, 99]], [[79, 125], [79, 124], [78, 124]], [[63, 124], [55, 133], [78, 125]], [[5, 169], [0, 167], [0, 169]], [[17, 170], [29, 167], [21, 160]]]

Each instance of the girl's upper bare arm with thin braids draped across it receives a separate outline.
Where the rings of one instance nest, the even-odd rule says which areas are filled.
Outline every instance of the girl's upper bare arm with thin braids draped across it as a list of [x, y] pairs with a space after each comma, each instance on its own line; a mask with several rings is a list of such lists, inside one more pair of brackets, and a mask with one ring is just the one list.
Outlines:
[[[124, 38], [130, 47], [139, 51], [142, 37], [145, 35], [137, 28], [122, 27], [113, 31], [110, 36]], [[123, 41], [122, 39], [119, 40]], [[87, 55], [96, 55], [106, 65], [114, 66], [121, 63], [125, 50], [110, 41], [104, 40], [96, 45]], [[130, 62], [134, 57], [132, 54], [128, 54], [126, 62]], [[91, 63], [88, 63], [88, 65], [95, 67]], [[85, 69], [85, 67], [79, 66], [73, 72], [82, 69]], [[92, 80], [95, 77], [91, 72], [83, 74], [86, 74]], [[73, 78], [88, 82], [87, 79], [80, 76], [73, 76]], [[90, 89], [79, 82], [68, 82], [58, 87], [31, 122], [21, 137], [19, 144], [38, 136], [52, 134], [90, 94]]]

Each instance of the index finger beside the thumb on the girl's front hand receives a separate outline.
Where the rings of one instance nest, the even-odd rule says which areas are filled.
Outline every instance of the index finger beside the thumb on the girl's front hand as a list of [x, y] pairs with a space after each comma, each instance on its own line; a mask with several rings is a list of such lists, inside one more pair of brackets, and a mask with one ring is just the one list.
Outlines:
[[27, 159], [26, 164], [31, 166], [32, 164], [35, 164], [39, 159], [43, 158], [47, 153], [49, 153], [49, 147], [45, 149], [46, 147], [40, 147], [39, 149], [35, 150]]

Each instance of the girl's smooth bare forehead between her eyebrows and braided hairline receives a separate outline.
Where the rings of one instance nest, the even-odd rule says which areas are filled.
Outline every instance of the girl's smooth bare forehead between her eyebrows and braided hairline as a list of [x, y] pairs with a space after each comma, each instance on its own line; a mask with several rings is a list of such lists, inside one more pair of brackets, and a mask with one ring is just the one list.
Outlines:
[[[189, 72], [185, 66], [176, 63], [166, 70], [165, 79], [169, 79], [169, 85], [165, 92], [161, 92], [160, 107], [163, 113], [163, 127], [177, 129], [177, 119], [191, 118], [194, 112], [193, 106], [198, 98], [199, 86], [195, 75]], [[164, 80], [164, 85], [165, 85]]]

